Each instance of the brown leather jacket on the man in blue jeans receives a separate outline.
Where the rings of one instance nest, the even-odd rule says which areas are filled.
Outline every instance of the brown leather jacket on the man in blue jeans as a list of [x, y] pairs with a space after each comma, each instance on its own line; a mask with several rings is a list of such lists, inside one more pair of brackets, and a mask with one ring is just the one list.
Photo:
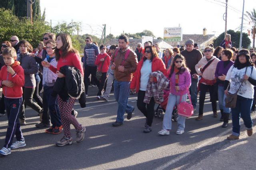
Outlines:
[[138, 65], [137, 56], [132, 50], [130, 50], [130, 53], [123, 65], [124, 72], [120, 72], [118, 71], [118, 66], [121, 66], [121, 63], [122, 63], [122, 60], [124, 59], [124, 55], [126, 53], [127, 48], [125, 52], [122, 52], [119, 48], [116, 50], [118, 50], [117, 55], [115, 56], [116, 54], [116, 51], [115, 51], [114, 55], [111, 57], [111, 61], [114, 62], [116, 66], [116, 69], [114, 70], [115, 79], [121, 82], [130, 82], [132, 81], [132, 76], [133, 76], [132, 73], [136, 71], [136, 68]]

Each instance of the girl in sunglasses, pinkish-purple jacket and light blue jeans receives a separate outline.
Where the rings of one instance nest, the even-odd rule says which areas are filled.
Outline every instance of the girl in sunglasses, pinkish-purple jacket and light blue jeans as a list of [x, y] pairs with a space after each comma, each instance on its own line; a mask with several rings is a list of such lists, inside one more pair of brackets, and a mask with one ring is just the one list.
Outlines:
[[[170, 95], [164, 114], [163, 129], [158, 132], [161, 135], [169, 135], [172, 129], [172, 111], [175, 104], [186, 102], [188, 88], [191, 85], [190, 71], [186, 67], [186, 60], [184, 56], [176, 54], [173, 59], [172, 65], [168, 71], [168, 78], [170, 80]], [[184, 133], [185, 116], [178, 115], [178, 130], [176, 134]]]

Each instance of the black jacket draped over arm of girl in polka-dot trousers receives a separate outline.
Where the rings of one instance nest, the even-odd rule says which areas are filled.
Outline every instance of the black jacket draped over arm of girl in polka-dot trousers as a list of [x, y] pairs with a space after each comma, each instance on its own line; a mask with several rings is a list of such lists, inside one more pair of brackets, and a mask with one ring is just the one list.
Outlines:
[[84, 94], [84, 82], [82, 75], [77, 68], [63, 66], [60, 72], [65, 75], [64, 78], [57, 78], [54, 83], [52, 96], [60, 96], [63, 101], [68, 101], [69, 96], [79, 98], [80, 106], [86, 106], [86, 95]]

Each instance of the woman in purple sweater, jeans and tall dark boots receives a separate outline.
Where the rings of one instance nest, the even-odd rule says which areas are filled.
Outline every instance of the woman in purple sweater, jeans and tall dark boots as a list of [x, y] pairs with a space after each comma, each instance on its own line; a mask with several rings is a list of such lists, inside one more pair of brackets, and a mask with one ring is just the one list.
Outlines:
[[224, 96], [224, 80], [226, 78], [227, 72], [229, 68], [234, 64], [230, 59], [233, 56], [233, 52], [230, 49], [225, 49], [222, 51], [221, 61], [218, 62], [215, 77], [218, 83], [218, 100], [219, 100], [219, 108], [221, 113], [220, 121], [224, 121], [222, 124], [222, 128], [228, 127], [228, 119], [230, 114], [230, 108], [225, 107], [225, 98]]

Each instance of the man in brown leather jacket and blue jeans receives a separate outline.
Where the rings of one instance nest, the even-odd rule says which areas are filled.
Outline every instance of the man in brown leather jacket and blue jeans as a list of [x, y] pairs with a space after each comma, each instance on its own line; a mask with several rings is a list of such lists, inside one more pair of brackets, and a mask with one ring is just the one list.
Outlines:
[[118, 38], [118, 47], [111, 58], [113, 62], [111, 69], [114, 70], [114, 96], [118, 102], [116, 122], [112, 126], [120, 126], [124, 122], [124, 112], [127, 113], [127, 119], [132, 118], [134, 107], [128, 104], [130, 94], [130, 82], [132, 73], [135, 72], [138, 65], [136, 54], [128, 47], [128, 37], [121, 35]]

